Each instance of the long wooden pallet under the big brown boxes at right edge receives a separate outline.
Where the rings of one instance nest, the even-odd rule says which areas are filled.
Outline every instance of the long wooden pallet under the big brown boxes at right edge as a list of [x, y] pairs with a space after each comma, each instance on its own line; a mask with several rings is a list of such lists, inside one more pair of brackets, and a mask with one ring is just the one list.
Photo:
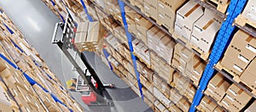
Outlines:
[[[230, 70], [226, 69], [219, 62], [218, 62], [218, 64], [215, 65], [215, 68], [218, 69], [219, 71], [223, 71], [224, 73], [227, 73], [227, 75], [230, 76], [230, 78], [232, 78], [232, 80], [235, 81], [235, 83], [237, 83], [237, 85], [239, 87], [247, 90], [248, 92], [251, 92], [254, 96], [256, 96], [256, 87], [255, 88], [250, 87], [249, 85], [247, 85], [246, 82], [241, 81], [239, 76], [237, 76], [233, 72], [230, 72]], [[225, 77], [227, 77], [227, 76], [225, 76]]]

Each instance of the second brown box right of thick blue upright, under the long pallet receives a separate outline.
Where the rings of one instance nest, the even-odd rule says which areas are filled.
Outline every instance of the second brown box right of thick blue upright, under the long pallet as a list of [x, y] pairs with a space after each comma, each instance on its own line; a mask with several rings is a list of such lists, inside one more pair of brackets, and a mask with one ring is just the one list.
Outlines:
[[234, 83], [227, 90], [227, 94], [231, 98], [233, 98], [233, 103], [235, 105], [240, 104], [242, 106], [245, 106], [250, 101], [250, 99], [253, 98], [251, 95], [249, 95], [247, 92], [243, 91], [240, 87], [238, 87]]

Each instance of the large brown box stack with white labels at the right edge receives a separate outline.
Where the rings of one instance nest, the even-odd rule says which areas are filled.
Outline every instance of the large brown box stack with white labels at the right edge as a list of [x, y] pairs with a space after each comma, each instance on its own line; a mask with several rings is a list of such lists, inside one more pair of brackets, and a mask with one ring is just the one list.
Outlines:
[[[220, 62], [233, 76], [239, 76], [248, 87], [255, 89], [256, 39], [244, 31], [237, 31]], [[232, 61], [231, 61], [232, 60]]]

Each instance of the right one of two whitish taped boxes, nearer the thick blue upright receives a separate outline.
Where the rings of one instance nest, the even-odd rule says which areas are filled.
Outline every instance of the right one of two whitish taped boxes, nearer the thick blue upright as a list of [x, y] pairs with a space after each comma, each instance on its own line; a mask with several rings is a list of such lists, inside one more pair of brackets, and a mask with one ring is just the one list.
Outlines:
[[[220, 17], [205, 9], [205, 14], [195, 22], [190, 42], [200, 48], [203, 53], [208, 53], [220, 26]], [[212, 35], [209, 36], [209, 34]]]

